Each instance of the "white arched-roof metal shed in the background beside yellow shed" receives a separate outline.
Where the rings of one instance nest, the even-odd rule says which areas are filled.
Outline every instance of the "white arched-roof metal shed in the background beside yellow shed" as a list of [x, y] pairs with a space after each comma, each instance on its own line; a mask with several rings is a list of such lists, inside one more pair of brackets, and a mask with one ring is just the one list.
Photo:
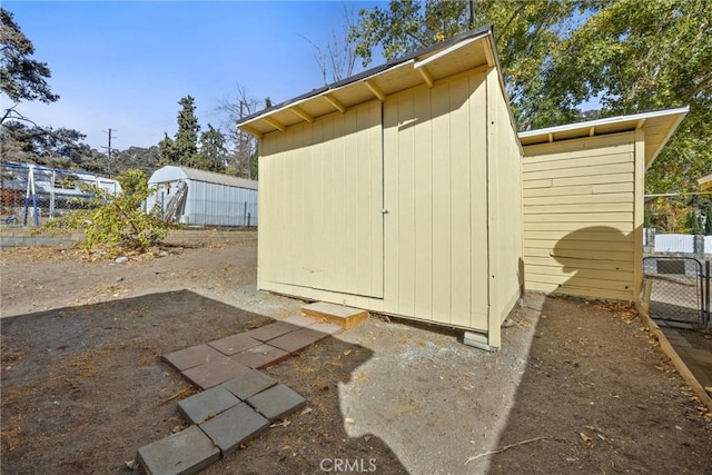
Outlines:
[[257, 181], [189, 167], [166, 166], [148, 180], [147, 209], [195, 226], [257, 226]]

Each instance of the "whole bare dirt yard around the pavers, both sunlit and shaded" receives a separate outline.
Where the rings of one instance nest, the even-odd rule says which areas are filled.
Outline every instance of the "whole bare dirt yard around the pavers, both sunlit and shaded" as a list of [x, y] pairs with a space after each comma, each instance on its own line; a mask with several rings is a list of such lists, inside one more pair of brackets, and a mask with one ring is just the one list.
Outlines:
[[[160, 355], [298, 314], [256, 243], [0, 253], [2, 473], [130, 474], [186, 426]], [[267, 373], [308, 406], [206, 474], [712, 474], [712, 418], [634, 310], [527, 296], [503, 348], [374, 316]], [[345, 471], [342, 471], [342, 473]]]

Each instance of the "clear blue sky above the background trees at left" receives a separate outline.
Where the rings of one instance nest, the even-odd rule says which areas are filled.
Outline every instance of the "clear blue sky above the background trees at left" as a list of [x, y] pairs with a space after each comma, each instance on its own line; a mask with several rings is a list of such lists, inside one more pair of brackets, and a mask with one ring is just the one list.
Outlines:
[[314, 48], [344, 31], [344, 8], [387, 2], [3, 0], [52, 71], [59, 101], [18, 110], [41, 126], [73, 128], [99, 149], [157, 145], [176, 131], [178, 100], [196, 99], [204, 129], [237, 85], [277, 103], [323, 86]]

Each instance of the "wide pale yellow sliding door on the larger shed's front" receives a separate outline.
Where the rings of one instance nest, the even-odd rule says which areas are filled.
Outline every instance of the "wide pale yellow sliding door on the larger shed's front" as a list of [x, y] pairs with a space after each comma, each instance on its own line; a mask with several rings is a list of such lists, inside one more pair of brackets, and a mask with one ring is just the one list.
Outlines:
[[260, 280], [383, 297], [380, 102], [265, 136], [259, 172]]

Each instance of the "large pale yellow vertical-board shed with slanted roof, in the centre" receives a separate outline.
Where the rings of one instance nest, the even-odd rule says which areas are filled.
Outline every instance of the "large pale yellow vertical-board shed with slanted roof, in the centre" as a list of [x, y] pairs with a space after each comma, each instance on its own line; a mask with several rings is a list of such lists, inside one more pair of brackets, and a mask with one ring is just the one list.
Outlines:
[[260, 139], [260, 289], [500, 346], [522, 289], [522, 152], [491, 27], [239, 127]]

